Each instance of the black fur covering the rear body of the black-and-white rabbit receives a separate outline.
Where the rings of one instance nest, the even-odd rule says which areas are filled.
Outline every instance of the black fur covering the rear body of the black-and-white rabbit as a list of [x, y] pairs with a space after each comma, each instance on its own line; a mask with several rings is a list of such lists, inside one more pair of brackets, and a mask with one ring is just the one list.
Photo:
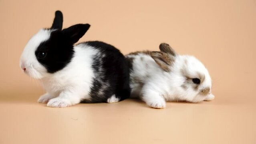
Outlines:
[[121, 52], [104, 42], [84, 42], [99, 50], [93, 58], [92, 68], [97, 76], [91, 87], [91, 99], [84, 102], [107, 102], [113, 94], [120, 100], [130, 96], [128, 62]]

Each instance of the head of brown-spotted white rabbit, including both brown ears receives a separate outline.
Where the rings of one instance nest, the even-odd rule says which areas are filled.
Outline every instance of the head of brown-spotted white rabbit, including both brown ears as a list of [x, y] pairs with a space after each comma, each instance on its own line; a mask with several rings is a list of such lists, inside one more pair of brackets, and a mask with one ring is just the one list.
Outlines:
[[194, 56], [179, 55], [169, 44], [162, 43], [160, 52], [151, 57], [167, 74], [170, 90], [176, 100], [200, 102], [212, 100], [212, 79], [204, 64]]

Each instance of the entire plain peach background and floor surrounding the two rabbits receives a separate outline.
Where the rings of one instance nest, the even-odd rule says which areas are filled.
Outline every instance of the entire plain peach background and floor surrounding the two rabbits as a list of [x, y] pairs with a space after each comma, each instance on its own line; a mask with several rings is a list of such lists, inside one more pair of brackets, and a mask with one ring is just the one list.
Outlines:
[[[167, 103], [139, 100], [48, 108], [40, 83], [20, 70], [20, 54], [54, 11], [63, 26], [89, 23], [81, 38], [113, 44], [124, 54], [169, 43], [208, 68], [216, 99]], [[0, 0], [0, 144], [245, 143], [256, 137], [255, 0]]]

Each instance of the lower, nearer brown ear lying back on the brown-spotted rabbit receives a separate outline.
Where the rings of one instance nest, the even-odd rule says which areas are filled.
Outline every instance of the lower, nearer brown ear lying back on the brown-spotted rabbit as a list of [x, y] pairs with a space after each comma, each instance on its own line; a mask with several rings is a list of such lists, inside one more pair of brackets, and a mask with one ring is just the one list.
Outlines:
[[163, 52], [151, 52], [150, 56], [155, 60], [155, 62], [162, 68], [165, 72], [169, 72], [169, 66], [174, 61], [174, 57]]

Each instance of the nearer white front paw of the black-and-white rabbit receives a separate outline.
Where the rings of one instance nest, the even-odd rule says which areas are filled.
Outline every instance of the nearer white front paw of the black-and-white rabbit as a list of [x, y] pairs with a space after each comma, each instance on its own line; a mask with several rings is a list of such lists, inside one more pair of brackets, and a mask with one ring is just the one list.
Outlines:
[[71, 102], [67, 99], [62, 99], [62, 98], [53, 98], [49, 100], [47, 103], [47, 106], [49, 107], [55, 107], [55, 108], [63, 108], [67, 106], [71, 106]]

